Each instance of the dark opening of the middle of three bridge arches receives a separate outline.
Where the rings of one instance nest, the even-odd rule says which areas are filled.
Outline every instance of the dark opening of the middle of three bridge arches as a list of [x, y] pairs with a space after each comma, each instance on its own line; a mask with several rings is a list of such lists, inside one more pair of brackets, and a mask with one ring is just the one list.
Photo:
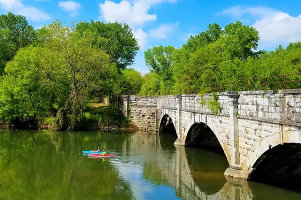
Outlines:
[[220, 140], [214, 131], [204, 122], [195, 122], [191, 125], [184, 145], [205, 149], [211, 148], [215, 151], [223, 152]]

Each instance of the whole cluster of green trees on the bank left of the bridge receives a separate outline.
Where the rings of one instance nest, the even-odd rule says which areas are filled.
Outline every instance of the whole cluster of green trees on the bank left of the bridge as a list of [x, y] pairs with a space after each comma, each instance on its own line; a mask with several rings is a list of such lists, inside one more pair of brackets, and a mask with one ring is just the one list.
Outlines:
[[[9, 50], [6, 43], [0, 46], [5, 65], [0, 121], [25, 128], [49, 122], [60, 130], [79, 128], [85, 120], [122, 125], [114, 106], [108, 111], [85, 107], [91, 99], [100, 101], [141, 87], [140, 73], [125, 69], [138, 49], [128, 25], [92, 21], [66, 26], [54, 21], [34, 30], [24, 16], [11, 12], [1, 15], [0, 22], [1, 39], [12, 45]], [[107, 123], [108, 116], [120, 121]]]

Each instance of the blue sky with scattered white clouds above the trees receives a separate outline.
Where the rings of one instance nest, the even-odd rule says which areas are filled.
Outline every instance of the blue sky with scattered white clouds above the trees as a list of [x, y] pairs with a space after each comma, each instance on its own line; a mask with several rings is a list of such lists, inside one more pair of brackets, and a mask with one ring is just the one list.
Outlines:
[[299, 0], [0, 0], [0, 13], [26, 16], [35, 28], [56, 19], [71, 21], [119, 21], [128, 23], [140, 50], [131, 66], [148, 71], [143, 53], [156, 45], [181, 47], [189, 35], [207, 29], [209, 23], [224, 27], [236, 20], [257, 28], [259, 49], [301, 40]]

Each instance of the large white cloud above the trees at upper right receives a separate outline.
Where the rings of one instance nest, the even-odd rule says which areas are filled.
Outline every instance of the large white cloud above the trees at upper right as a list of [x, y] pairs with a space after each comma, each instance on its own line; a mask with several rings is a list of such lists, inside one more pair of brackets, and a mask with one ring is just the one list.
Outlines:
[[[272, 47], [280, 43], [287, 44], [301, 40], [301, 14], [290, 16], [269, 7], [230, 7], [221, 14], [233, 18], [251, 18], [260, 35], [260, 43]], [[243, 20], [242, 20], [243, 21]]]

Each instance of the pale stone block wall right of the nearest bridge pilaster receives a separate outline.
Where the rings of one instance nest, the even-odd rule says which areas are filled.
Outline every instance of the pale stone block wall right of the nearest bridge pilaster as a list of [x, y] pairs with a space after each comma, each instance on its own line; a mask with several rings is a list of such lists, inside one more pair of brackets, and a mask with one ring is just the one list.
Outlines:
[[242, 91], [238, 114], [254, 120], [279, 123], [301, 122], [301, 89]]

